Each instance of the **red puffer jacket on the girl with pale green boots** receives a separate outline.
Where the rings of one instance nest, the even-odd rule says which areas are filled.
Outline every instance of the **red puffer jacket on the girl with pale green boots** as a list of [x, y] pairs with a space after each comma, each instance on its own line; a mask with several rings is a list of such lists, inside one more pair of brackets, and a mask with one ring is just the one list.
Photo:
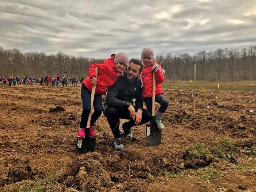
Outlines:
[[[156, 62], [159, 66], [161, 66], [160, 62]], [[142, 97], [152, 97], [152, 83], [153, 83], [153, 71], [152, 64], [148, 66], [143, 66], [142, 69], [142, 82], [143, 82], [143, 90]], [[162, 91], [161, 83], [164, 82], [164, 75], [162, 74], [162, 70], [158, 69], [154, 72], [156, 77], [156, 95], [164, 94]]]

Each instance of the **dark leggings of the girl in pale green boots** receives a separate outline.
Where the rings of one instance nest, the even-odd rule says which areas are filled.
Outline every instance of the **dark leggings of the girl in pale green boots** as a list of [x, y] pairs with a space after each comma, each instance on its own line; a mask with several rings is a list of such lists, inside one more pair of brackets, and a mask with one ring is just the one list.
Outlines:
[[[152, 97], [144, 97], [143, 100], [148, 111], [152, 113]], [[163, 94], [157, 94], [156, 102], [160, 104], [159, 112], [164, 113], [169, 106], [168, 100], [163, 96]]]

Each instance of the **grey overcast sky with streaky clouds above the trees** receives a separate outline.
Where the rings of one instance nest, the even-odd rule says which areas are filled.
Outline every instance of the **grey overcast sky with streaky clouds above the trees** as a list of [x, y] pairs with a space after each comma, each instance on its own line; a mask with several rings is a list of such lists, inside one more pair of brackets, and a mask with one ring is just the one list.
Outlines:
[[0, 46], [140, 58], [256, 45], [256, 0], [0, 0]]

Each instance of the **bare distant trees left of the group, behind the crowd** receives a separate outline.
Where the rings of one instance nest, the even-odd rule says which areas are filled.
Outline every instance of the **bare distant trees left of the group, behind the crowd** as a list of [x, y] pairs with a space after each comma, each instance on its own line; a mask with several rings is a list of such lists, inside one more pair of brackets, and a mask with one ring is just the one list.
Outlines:
[[62, 52], [46, 55], [44, 52], [25, 52], [18, 49], [0, 47], [0, 76], [18, 75], [44, 77], [49, 73], [68, 78], [88, 76], [88, 67], [92, 63], [102, 63], [104, 59], [67, 55]]

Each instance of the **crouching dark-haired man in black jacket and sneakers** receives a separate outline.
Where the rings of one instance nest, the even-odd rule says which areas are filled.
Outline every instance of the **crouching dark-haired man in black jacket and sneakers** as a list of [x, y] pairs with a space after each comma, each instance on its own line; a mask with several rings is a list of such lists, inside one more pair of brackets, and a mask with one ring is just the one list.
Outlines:
[[[103, 112], [114, 135], [116, 150], [124, 149], [119, 131], [120, 118], [129, 119], [128, 122], [121, 125], [126, 138], [132, 138], [131, 128], [133, 126], [142, 125], [151, 119], [150, 112], [143, 109], [142, 83], [140, 81], [142, 68], [142, 63], [139, 60], [131, 59], [124, 76], [110, 87], [106, 96], [106, 106]], [[136, 99], [135, 105], [132, 101], [134, 98]]]

